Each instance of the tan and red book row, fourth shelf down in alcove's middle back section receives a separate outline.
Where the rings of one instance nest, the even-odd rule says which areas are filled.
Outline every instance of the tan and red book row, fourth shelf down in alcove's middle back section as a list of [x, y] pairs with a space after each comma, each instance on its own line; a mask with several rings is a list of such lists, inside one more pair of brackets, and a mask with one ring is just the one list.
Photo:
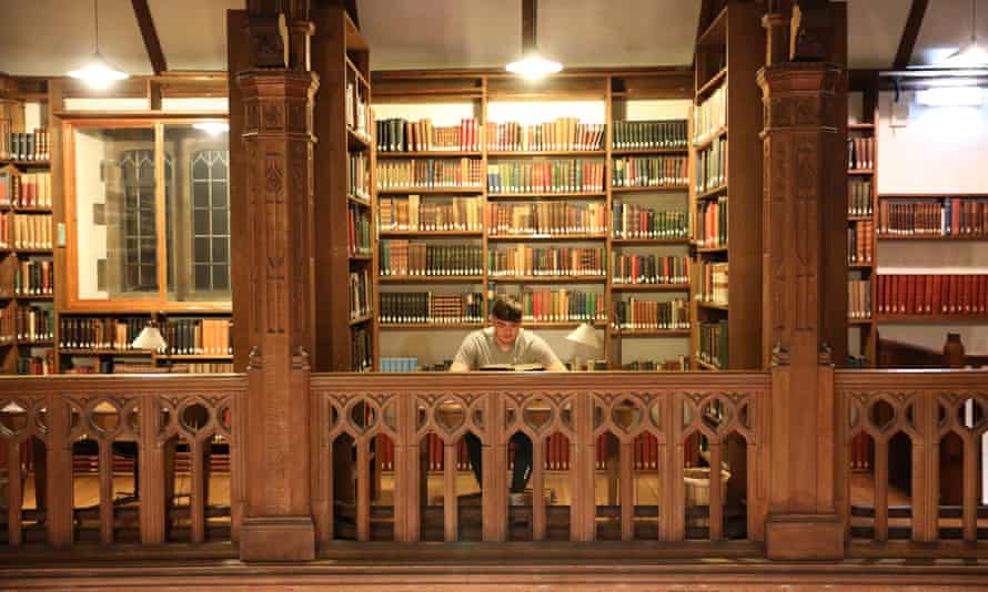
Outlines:
[[487, 253], [487, 269], [501, 276], [604, 276], [603, 247], [530, 247], [516, 245]]

